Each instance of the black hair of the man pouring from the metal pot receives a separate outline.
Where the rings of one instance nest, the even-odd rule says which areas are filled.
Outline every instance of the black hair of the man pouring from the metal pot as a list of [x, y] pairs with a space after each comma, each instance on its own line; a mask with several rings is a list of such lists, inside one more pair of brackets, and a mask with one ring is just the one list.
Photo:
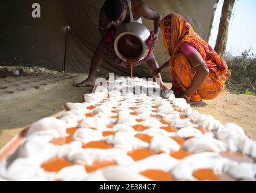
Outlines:
[[123, 2], [122, 0], [106, 0], [103, 8], [107, 18], [114, 21], [123, 13]]

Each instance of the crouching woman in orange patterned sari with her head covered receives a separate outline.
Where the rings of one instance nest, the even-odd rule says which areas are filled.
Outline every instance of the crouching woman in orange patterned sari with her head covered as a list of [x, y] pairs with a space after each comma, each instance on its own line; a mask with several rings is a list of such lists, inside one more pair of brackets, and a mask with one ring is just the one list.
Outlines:
[[172, 90], [187, 103], [217, 97], [231, 73], [228, 65], [179, 14], [169, 14], [160, 23], [163, 43], [170, 59], [153, 76], [171, 66]]

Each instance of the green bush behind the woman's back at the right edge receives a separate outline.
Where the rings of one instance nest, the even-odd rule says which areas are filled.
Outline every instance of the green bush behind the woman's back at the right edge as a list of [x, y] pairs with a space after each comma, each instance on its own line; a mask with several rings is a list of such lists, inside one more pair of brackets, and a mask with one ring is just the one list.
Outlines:
[[226, 54], [223, 59], [231, 71], [231, 78], [226, 81], [226, 89], [235, 94], [255, 95], [256, 55], [244, 51], [236, 57]]

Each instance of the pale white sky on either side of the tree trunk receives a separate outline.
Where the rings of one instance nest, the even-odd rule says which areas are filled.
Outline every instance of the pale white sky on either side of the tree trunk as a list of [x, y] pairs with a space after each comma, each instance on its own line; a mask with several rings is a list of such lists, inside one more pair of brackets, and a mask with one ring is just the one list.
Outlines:
[[[211, 37], [209, 44], [214, 48], [218, 34], [218, 24], [222, 13], [224, 0], [220, 0], [215, 13], [214, 23], [212, 24]], [[245, 50], [252, 49], [256, 54], [256, 1], [255, 0], [236, 0], [234, 13], [231, 17], [229, 26], [227, 52], [232, 55], [241, 54]]]

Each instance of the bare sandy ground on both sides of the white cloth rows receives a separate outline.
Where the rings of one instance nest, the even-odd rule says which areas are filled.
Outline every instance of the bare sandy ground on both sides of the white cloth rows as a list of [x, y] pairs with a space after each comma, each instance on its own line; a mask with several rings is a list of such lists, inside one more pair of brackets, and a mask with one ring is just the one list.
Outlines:
[[[168, 83], [171, 87], [171, 83]], [[80, 96], [91, 92], [92, 87], [75, 87], [65, 84], [29, 100], [13, 103], [8, 108], [0, 109], [0, 148], [15, 136], [22, 127], [38, 119], [51, 116], [62, 110], [66, 102], [80, 102]], [[219, 119], [223, 124], [233, 122], [243, 127], [256, 139], [256, 96], [232, 95], [223, 92], [218, 98], [205, 101], [206, 106], [193, 107]]]

